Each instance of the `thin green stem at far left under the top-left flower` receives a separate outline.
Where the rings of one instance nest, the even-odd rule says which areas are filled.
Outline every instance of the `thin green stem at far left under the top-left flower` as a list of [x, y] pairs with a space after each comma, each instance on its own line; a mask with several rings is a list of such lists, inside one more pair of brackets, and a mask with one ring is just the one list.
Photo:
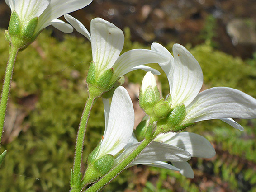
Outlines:
[[18, 50], [19, 49], [15, 46], [10, 47], [9, 60], [8, 60], [6, 71], [5, 71], [5, 80], [4, 80], [4, 84], [3, 84], [3, 91], [2, 91], [1, 102], [0, 102], [0, 140], [2, 139], [2, 133], [3, 133], [3, 128], [4, 128], [4, 122], [5, 122], [5, 113], [6, 113], [7, 102], [8, 102], [8, 98], [9, 98], [10, 85], [11, 85], [11, 81], [12, 81], [14, 63], [15, 63], [15, 59], [16, 59]]

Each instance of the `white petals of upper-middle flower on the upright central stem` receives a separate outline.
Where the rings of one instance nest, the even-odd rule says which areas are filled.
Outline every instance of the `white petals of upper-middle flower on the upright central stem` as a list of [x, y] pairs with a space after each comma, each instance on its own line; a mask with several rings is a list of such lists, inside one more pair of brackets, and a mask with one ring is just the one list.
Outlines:
[[160, 74], [157, 70], [148, 66], [147, 63], [166, 62], [168, 58], [158, 52], [147, 49], [133, 49], [123, 53], [124, 35], [121, 29], [114, 24], [101, 18], [91, 20], [91, 35], [81, 22], [65, 14], [65, 19], [85, 37], [91, 41], [92, 60], [96, 66], [97, 75], [113, 68], [114, 79], [137, 69], [152, 71], [154, 74]]

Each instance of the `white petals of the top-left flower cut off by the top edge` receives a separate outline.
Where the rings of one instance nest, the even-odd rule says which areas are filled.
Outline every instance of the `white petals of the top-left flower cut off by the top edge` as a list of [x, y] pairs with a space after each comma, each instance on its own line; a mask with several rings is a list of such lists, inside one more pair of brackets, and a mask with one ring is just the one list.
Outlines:
[[92, 0], [5, 0], [6, 4], [19, 15], [22, 26], [38, 17], [35, 34], [43, 28], [53, 25], [65, 33], [71, 33], [71, 25], [59, 20], [65, 13], [70, 13], [89, 5]]

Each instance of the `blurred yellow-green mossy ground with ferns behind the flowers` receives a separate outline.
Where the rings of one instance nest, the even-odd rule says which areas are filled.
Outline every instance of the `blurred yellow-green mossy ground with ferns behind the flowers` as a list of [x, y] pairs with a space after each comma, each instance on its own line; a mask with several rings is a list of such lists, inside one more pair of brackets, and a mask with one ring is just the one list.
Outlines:
[[[131, 42], [129, 30], [125, 31], [123, 52], [149, 48]], [[2, 86], [9, 51], [4, 31], [0, 42]], [[172, 44], [166, 47], [171, 51]], [[242, 61], [213, 49], [209, 43], [186, 47], [202, 67], [205, 89], [228, 86], [256, 96], [254, 59]], [[43, 31], [33, 45], [19, 52], [9, 106], [13, 104], [12, 110], [23, 114], [23, 119], [5, 128], [5, 133], [10, 131], [7, 129], [13, 129], [11, 133], [20, 132], [1, 147], [1, 151], [8, 149], [1, 167], [1, 191], [69, 190], [76, 131], [87, 98], [85, 78], [91, 60], [90, 42], [86, 39], [66, 35], [64, 41], [58, 42], [49, 31]], [[156, 64], [152, 66], [161, 71]], [[144, 74], [145, 71], [137, 70], [126, 76], [128, 82], [140, 84]], [[159, 81], [166, 95], [169, 85], [163, 73]], [[255, 120], [239, 123], [245, 131], [218, 120], [199, 122], [185, 130], [205, 136], [216, 149], [212, 159], [189, 161], [194, 179], [166, 169], [137, 166], [123, 171], [104, 191], [255, 191]], [[104, 109], [98, 99], [88, 122], [84, 165], [103, 130]]]

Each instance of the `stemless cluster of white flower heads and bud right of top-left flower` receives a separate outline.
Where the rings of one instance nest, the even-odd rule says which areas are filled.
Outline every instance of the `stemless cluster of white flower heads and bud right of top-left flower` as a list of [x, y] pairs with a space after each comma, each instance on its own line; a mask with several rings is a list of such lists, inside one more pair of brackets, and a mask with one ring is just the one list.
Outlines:
[[[109, 91], [129, 71], [149, 71], [142, 81], [139, 97], [146, 116], [135, 131], [133, 105], [126, 89], [117, 84], [111, 105], [107, 98], [103, 98], [105, 131], [88, 158], [85, 183], [104, 176], [145, 139], [152, 142], [127, 167], [144, 164], [180, 171], [193, 178], [193, 170], [187, 161], [191, 157], [211, 158], [215, 150], [203, 136], [180, 131], [195, 122], [209, 119], [221, 119], [243, 130], [232, 118], [255, 118], [256, 100], [241, 91], [217, 87], [199, 93], [203, 84], [202, 69], [180, 44], [173, 46], [174, 57], [158, 43], [153, 43], [151, 50], [135, 49], [119, 56], [124, 36], [112, 23], [101, 18], [92, 19], [90, 34], [77, 19], [67, 14], [65, 18], [91, 42], [92, 62], [87, 77], [89, 94], [93, 93], [90, 87], [98, 90], [97, 97]], [[166, 99], [161, 98], [152, 74], [159, 75], [159, 72], [144, 66], [155, 62], [166, 73], [170, 85]]]

